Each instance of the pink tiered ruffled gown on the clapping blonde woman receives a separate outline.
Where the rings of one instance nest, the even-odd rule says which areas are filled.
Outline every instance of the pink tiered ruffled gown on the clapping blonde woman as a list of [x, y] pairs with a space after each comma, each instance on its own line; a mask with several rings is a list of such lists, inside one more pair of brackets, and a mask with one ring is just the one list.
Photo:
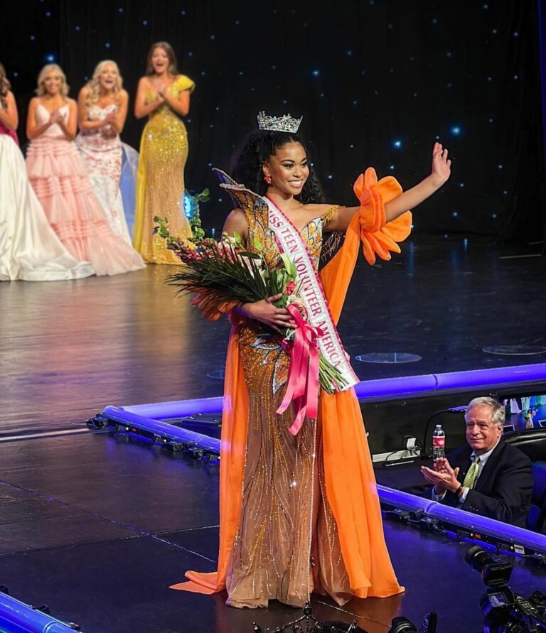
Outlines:
[[[68, 104], [59, 112], [68, 118]], [[43, 124], [49, 117], [48, 109], [38, 104], [36, 122]], [[110, 229], [85, 163], [60, 126], [50, 126], [31, 141], [26, 166], [51, 227], [75, 259], [90, 261], [97, 275], [116, 275], [146, 266], [137, 251]]]

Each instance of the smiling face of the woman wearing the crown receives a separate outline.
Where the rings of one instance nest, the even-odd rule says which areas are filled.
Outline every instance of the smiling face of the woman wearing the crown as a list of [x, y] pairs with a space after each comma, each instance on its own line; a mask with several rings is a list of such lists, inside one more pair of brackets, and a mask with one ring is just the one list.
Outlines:
[[269, 156], [263, 165], [265, 175], [269, 175], [272, 184], [269, 188], [277, 190], [283, 197], [299, 195], [309, 178], [309, 161], [301, 143], [287, 143]]

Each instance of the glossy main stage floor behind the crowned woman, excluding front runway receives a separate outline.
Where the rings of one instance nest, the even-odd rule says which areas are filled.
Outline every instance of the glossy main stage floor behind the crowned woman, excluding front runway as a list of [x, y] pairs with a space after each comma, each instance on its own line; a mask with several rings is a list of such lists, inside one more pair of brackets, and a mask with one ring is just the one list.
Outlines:
[[[410, 352], [422, 360], [353, 360], [360, 379], [545, 361], [482, 351], [545, 345], [545, 260], [532, 256], [540, 246], [424, 237], [403, 246], [372, 268], [360, 261], [339, 331], [353, 359]], [[229, 325], [206, 323], [187, 297], [174, 298], [163, 283], [169, 268], [0, 283], [0, 433], [79, 425], [108, 404], [221, 395], [214, 376]]]

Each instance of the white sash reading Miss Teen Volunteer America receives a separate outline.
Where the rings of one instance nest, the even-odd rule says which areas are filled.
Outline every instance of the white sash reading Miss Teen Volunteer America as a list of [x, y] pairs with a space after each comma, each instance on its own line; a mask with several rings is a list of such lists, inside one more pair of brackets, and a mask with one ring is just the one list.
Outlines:
[[311, 255], [301, 234], [289, 218], [269, 198], [262, 199], [267, 202], [269, 207], [269, 227], [277, 237], [282, 251], [290, 256], [290, 259], [294, 261], [294, 266], [296, 266], [298, 281], [301, 283], [299, 295], [307, 308], [309, 323], [323, 332], [323, 335], [318, 339], [319, 350], [346, 379], [347, 384], [341, 389], [341, 391], [345, 391], [358, 382], [358, 377], [353, 372], [348, 355], [341, 345], [338, 330], [333, 323], [321, 280], [315, 270]]

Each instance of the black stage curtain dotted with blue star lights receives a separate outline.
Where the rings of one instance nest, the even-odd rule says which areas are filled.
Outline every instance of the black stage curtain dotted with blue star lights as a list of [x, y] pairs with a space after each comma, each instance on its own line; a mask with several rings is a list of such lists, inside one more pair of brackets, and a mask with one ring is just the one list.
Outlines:
[[[5, 42], [0, 59], [12, 77], [17, 70], [14, 90], [25, 96], [52, 51], [73, 97], [96, 63], [112, 58], [134, 98], [149, 45], [173, 45], [179, 70], [197, 84], [186, 183], [214, 193], [202, 207], [205, 226], [219, 227], [230, 208], [210, 167], [229, 168], [265, 109], [304, 115], [328, 202], [353, 203], [353, 180], [369, 165], [404, 187], [416, 183], [439, 139], [453, 178], [415, 214], [417, 231], [540, 239], [536, 0], [22, 4], [31, 26], [18, 18], [14, 38], [26, 43], [24, 60], [21, 45]], [[32, 59], [29, 29], [41, 38]], [[143, 125], [129, 114], [124, 140], [138, 147]]]

